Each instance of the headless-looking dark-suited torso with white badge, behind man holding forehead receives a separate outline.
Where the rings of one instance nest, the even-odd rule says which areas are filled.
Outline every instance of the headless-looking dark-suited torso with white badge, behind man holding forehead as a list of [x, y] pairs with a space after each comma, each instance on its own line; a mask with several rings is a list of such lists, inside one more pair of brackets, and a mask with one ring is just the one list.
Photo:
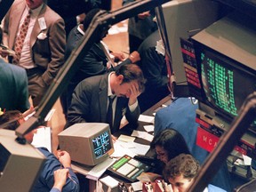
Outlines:
[[142, 44], [140, 44], [138, 49], [138, 52], [140, 52], [140, 61], [138, 61], [138, 65], [147, 79], [145, 92], [140, 94], [139, 97], [142, 112], [170, 94], [164, 57], [164, 44], [160, 39], [159, 32], [156, 30], [153, 34], [148, 36]]

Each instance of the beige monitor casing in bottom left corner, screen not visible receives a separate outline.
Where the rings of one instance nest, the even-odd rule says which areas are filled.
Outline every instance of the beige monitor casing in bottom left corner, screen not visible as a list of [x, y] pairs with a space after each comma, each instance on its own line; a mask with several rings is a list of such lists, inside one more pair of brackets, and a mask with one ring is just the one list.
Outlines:
[[31, 191], [45, 156], [30, 144], [20, 144], [14, 131], [0, 129], [0, 190]]

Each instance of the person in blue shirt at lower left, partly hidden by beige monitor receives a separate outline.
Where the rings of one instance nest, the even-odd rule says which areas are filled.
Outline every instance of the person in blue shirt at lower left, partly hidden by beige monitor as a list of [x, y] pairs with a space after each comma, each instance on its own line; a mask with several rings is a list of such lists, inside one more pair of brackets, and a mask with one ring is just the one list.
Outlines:
[[[0, 116], [0, 127], [8, 130], [16, 130], [20, 124], [24, 123], [25, 119], [18, 110], [6, 111]], [[36, 130], [28, 132], [25, 135], [25, 139], [28, 143], [31, 143]], [[46, 161], [43, 165], [42, 171], [39, 173], [38, 180], [36, 180], [32, 191], [50, 191], [54, 184], [54, 171], [65, 167], [68, 169], [68, 179], [65, 182], [62, 191], [79, 191], [79, 181], [75, 172], [71, 169], [71, 158], [67, 151], [58, 151], [57, 156], [54, 156], [48, 151], [47, 148], [38, 148], [42, 154], [46, 157]], [[25, 164], [23, 164], [25, 166]], [[29, 166], [29, 165], [28, 165]], [[29, 168], [29, 167], [28, 167]]]

